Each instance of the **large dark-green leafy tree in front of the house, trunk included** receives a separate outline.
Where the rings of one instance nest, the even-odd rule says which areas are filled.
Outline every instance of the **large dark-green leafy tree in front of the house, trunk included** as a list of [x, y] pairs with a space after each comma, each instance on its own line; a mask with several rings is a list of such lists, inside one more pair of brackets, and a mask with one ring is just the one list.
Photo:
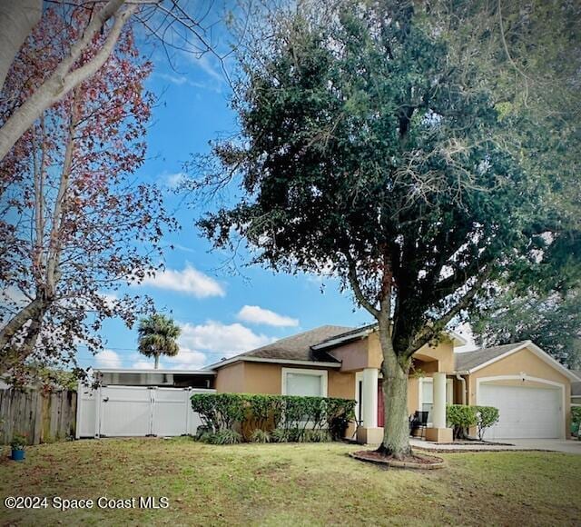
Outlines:
[[413, 353], [498, 279], [556, 264], [564, 236], [555, 185], [512, 142], [534, 119], [499, 104], [483, 76], [486, 32], [458, 38], [464, 25], [438, 6], [346, 0], [271, 14], [240, 56], [241, 134], [215, 145], [195, 184], [241, 185], [238, 204], [200, 222], [215, 245], [241, 235], [254, 263], [330, 268], [376, 319], [379, 450], [396, 457], [409, 453]]

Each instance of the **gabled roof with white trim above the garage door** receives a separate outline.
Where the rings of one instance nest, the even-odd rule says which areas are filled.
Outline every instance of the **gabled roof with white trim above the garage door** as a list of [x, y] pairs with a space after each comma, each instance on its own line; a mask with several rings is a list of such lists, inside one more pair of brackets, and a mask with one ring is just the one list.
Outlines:
[[563, 373], [574, 383], [578, 380], [574, 373], [571, 373], [571, 371], [567, 370], [563, 364], [558, 363], [547, 352], [539, 348], [536, 343], [531, 341], [504, 344], [502, 346], [494, 346], [491, 348], [482, 348], [473, 352], [454, 353], [454, 358], [456, 360], [456, 371], [458, 373], [477, 372], [488, 364], [496, 363], [497, 361], [504, 359], [512, 353], [517, 353], [523, 348], [527, 348], [527, 350], [535, 353], [539, 359], [553, 366], [557, 371]]

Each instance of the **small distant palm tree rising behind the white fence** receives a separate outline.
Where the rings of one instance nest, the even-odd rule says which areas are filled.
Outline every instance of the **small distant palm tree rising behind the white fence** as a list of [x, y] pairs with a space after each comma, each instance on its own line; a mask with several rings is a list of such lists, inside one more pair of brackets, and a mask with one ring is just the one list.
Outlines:
[[155, 369], [160, 365], [160, 355], [173, 357], [180, 351], [175, 342], [180, 336], [181, 329], [169, 316], [155, 313], [143, 318], [139, 323], [139, 353], [146, 357], [155, 357]]

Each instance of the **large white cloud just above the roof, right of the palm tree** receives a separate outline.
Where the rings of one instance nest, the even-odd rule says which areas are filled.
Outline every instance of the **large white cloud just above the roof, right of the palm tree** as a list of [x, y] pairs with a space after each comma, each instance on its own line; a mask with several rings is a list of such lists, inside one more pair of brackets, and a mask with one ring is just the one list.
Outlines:
[[207, 350], [220, 353], [241, 353], [271, 343], [274, 339], [257, 334], [241, 323], [223, 324], [208, 321], [194, 325], [182, 323], [180, 346], [188, 350]]

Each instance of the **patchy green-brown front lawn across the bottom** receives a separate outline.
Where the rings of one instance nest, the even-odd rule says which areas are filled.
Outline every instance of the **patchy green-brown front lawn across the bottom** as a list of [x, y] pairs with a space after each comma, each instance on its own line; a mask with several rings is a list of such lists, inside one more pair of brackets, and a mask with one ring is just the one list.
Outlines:
[[442, 455], [443, 470], [384, 470], [356, 446], [190, 439], [102, 440], [31, 447], [0, 461], [0, 495], [96, 500], [166, 496], [166, 510], [7, 511], [22, 525], [578, 524], [581, 456], [545, 452]]

